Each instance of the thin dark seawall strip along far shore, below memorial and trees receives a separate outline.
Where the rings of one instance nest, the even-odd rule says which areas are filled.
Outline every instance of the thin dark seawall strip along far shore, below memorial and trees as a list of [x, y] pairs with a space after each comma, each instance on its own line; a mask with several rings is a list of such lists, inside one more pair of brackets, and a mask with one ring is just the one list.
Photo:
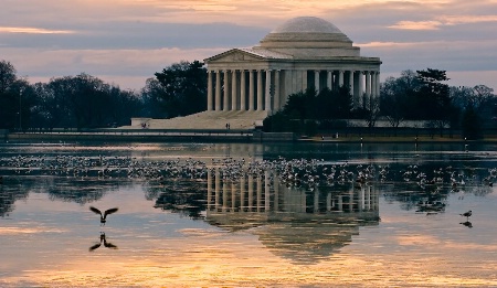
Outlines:
[[13, 132], [4, 135], [4, 142], [23, 141], [205, 141], [205, 142], [315, 142], [315, 143], [497, 143], [497, 137], [466, 140], [459, 136], [328, 136], [300, 137], [293, 134], [264, 134], [247, 130], [212, 131], [55, 131], [55, 132]]

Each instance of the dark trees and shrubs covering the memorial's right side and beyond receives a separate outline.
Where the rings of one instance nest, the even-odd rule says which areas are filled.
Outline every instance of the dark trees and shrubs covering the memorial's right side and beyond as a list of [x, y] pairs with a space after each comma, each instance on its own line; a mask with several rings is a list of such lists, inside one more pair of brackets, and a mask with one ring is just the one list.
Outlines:
[[309, 87], [288, 96], [286, 105], [264, 120], [265, 131], [293, 131], [315, 135], [346, 128], [351, 119], [361, 119], [373, 128], [384, 119], [396, 132], [405, 121], [423, 122], [432, 131], [461, 130], [463, 137], [482, 137], [484, 124], [497, 121], [497, 97], [485, 85], [448, 86], [445, 71], [403, 71], [380, 85], [379, 97], [361, 95], [362, 105], [353, 103], [348, 87], [320, 92]]

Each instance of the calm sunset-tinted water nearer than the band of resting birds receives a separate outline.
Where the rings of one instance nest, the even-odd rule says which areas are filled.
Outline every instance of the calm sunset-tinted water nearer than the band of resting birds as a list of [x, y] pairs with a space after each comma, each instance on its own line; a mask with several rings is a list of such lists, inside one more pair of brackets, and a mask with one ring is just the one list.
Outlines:
[[[494, 188], [473, 194], [468, 185], [464, 198], [442, 188], [436, 196], [414, 198], [412, 184], [299, 188], [275, 179], [268, 170], [225, 180], [214, 169], [204, 181], [167, 185], [6, 181], [0, 286], [497, 286]], [[197, 193], [197, 202], [169, 203], [169, 189], [181, 191], [177, 200]], [[416, 213], [420, 199], [443, 201], [444, 209]], [[91, 205], [119, 211], [102, 227]], [[459, 224], [468, 207], [472, 228]]]

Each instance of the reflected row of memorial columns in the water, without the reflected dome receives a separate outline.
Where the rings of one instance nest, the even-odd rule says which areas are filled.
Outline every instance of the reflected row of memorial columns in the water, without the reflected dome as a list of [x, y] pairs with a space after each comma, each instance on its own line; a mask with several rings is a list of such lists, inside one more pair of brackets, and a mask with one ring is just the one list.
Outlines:
[[[236, 181], [222, 179], [219, 169], [208, 171], [208, 211], [216, 212], [372, 212], [379, 211], [379, 194], [371, 185], [355, 188], [345, 193], [313, 191], [313, 203], [304, 189], [288, 189], [264, 177], [242, 177]], [[309, 207], [311, 211], [309, 211]]]

